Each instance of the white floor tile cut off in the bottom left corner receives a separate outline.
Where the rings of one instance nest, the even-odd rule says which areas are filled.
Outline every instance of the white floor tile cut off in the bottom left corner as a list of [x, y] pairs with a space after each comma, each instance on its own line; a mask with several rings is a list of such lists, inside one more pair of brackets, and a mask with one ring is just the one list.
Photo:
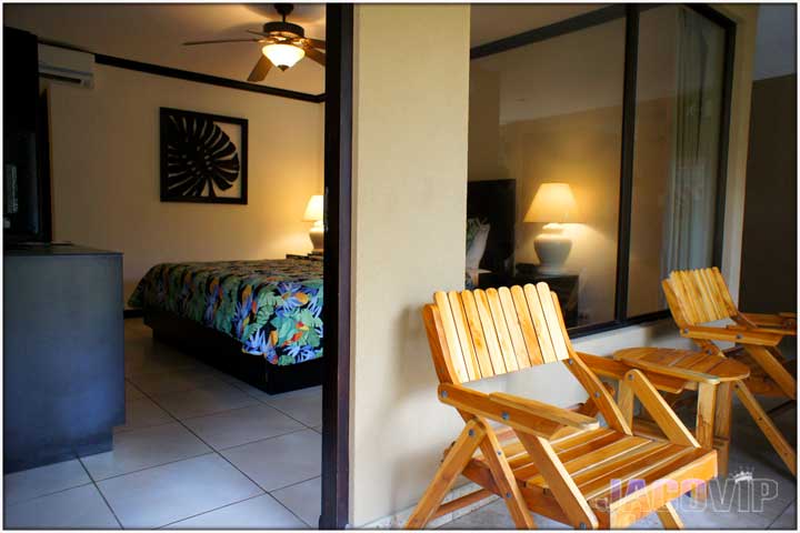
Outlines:
[[93, 484], [69, 489], [6, 507], [6, 529], [119, 529]]

